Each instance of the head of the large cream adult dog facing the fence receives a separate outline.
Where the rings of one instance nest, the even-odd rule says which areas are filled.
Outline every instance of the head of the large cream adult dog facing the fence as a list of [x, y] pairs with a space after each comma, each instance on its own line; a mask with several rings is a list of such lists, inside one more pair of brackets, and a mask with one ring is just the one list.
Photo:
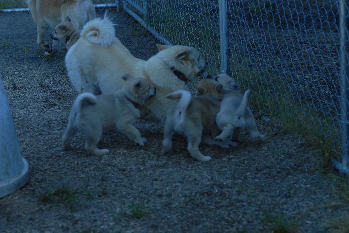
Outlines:
[[173, 73], [182, 81], [194, 80], [207, 67], [207, 62], [200, 58], [199, 51], [189, 46], [168, 46], [156, 44], [160, 57]]

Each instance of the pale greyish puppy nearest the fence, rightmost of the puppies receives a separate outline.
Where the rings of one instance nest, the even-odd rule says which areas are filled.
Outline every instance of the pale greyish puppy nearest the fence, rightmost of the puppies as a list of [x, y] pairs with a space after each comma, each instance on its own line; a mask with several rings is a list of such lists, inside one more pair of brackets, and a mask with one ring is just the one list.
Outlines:
[[243, 96], [240, 93], [240, 85], [224, 73], [208, 78], [223, 85], [223, 99], [216, 116], [216, 124], [222, 133], [215, 139], [224, 141], [233, 135], [233, 141], [239, 141], [240, 130], [248, 130], [252, 140], [264, 141], [265, 135], [259, 133], [252, 111], [248, 107], [251, 90], [247, 90]]

